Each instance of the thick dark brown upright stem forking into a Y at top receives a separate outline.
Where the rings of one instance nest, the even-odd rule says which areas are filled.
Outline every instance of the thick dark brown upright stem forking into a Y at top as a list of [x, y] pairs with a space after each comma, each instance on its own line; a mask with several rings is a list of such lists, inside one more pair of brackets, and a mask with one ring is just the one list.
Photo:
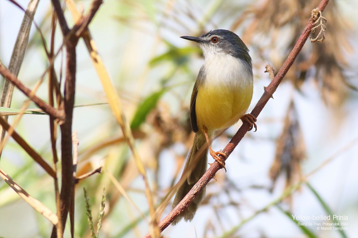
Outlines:
[[[72, 157], [72, 117], [73, 106], [76, 86], [76, 46], [79, 36], [76, 35], [77, 30], [84, 29], [88, 26], [89, 22], [99, 9], [102, 0], [93, 0], [89, 12], [85, 17], [79, 19], [70, 31], [64, 17], [61, 4], [59, 0], [52, 0], [55, 12], [58, 17], [59, 25], [64, 37], [64, 44], [66, 46], [66, 76], [64, 83], [64, 114], [65, 121], [61, 125], [61, 152], [62, 152], [62, 186], [60, 193], [59, 209], [61, 217], [59, 224], [62, 225], [61, 230], [59, 227], [53, 227], [51, 237], [62, 237], [64, 225], [66, 224], [68, 211], [73, 201], [75, 179], [73, 176], [73, 157]], [[74, 204], [72, 204], [73, 206]], [[73, 215], [73, 214], [72, 214]], [[73, 228], [72, 228], [73, 229]]]

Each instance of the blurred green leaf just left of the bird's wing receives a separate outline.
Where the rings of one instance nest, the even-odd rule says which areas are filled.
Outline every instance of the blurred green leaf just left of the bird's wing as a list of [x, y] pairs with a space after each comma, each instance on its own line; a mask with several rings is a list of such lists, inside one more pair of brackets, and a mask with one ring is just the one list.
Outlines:
[[144, 99], [144, 101], [138, 106], [137, 111], [133, 117], [131, 122], [131, 130], [136, 130], [140, 127], [140, 125], [145, 121], [145, 118], [150, 110], [156, 106], [158, 100], [165, 91], [166, 90], [163, 88]]

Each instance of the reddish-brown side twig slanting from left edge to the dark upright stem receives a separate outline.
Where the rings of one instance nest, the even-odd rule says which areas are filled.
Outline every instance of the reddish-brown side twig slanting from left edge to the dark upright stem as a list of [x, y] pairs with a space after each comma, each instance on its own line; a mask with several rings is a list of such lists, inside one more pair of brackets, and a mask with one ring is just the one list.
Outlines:
[[0, 62], [0, 74], [4, 76], [5, 79], [9, 80], [13, 83], [21, 92], [23, 92], [31, 101], [33, 101], [39, 108], [41, 108], [48, 115], [53, 116], [54, 118], [58, 118], [60, 120], [64, 120], [63, 111], [57, 110], [56, 108], [50, 106], [42, 99], [33, 95], [33, 92], [27, 88], [21, 81], [12, 74], [6, 67]]

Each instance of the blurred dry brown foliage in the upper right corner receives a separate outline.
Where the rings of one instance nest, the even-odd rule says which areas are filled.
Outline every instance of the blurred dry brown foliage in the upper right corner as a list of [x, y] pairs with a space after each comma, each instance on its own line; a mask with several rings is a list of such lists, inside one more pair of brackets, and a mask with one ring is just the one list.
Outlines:
[[[311, 10], [319, 2], [262, 1], [261, 5], [248, 7], [234, 21], [233, 29], [236, 30], [244, 22], [250, 22], [244, 26], [243, 41], [250, 42], [263, 60], [269, 60], [275, 69], [279, 69], [306, 26]], [[301, 90], [304, 81], [313, 78], [323, 101], [336, 109], [345, 102], [350, 90], [357, 91], [352, 81], [355, 78], [344, 75], [346, 70], [353, 70], [357, 74], [356, 69], [347, 62], [347, 54], [357, 51], [350, 43], [352, 27], [357, 26], [341, 14], [337, 4], [338, 1], [330, 1], [324, 11], [324, 16], [329, 19], [326, 23], [329, 31], [324, 44], [306, 42], [285, 77], [292, 81], [297, 90]]]

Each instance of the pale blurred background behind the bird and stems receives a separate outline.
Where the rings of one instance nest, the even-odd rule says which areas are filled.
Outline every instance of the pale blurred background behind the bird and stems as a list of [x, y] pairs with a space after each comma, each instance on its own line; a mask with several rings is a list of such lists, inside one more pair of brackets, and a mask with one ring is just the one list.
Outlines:
[[[24, 8], [28, 4], [17, 2]], [[85, 11], [90, 3], [76, 1]], [[265, 65], [279, 70], [318, 4], [317, 0], [104, 1], [89, 30], [124, 106], [155, 204], [179, 180], [193, 141], [189, 101], [203, 56], [197, 45], [179, 36], [228, 29], [242, 38], [254, 65], [250, 111], [270, 83]], [[23, 15], [10, 1], [0, 1], [0, 60], [5, 66]], [[48, 41], [51, 16], [51, 2], [40, 1], [34, 20]], [[72, 26], [70, 12], [65, 16]], [[229, 156], [227, 173], [221, 169], [217, 181], [208, 184], [193, 221], [169, 226], [164, 237], [358, 237], [358, 1], [331, 0], [323, 16], [328, 20], [325, 41], [306, 42], [274, 99], [257, 118], [258, 130], [248, 132]], [[55, 36], [59, 49], [63, 40], [59, 29]], [[64, 60], [59, 54], [55, 61], [58, 76], [64, 74]], [[33, 88], [47, 67], [33, 27], [18, 77]], [[37, 95], [46, 101], [47, 93], [43, 83]], [[11, 108], [20, 109], [25, 100], [15, 89]], [[75, 236], [89, 236], [83, 187], [95, 222], [105, 187], [100, 237], [141, 237], [149, 231], [150, 219], [144, 183], [106, 102], [80, 39], [75, 104], [82, 107], [74, 109], [73, 121], [79, 139], [77, 172], [81, 175], [99, 166], [104, 172], [76, 187]], [[15, 117], [10, 116], [9, 122]], [[219, 136], [214, 150], [224, 148], [240, 126], [238, 122]], [[51, 161], [48, 116], [23, 115], [16, 131]], [[59, 140], [57, 144], [60, 148]], [[52, 179], [11, 138], [0, 167], [55, 212]], [[118, 191], [112, 175], [132, 201]], [[171, 204], [166, 206], [161, 218], [170, 208]], [[343, 226], [347, 229], [318, 230], [321, 226], [298, 226], [292, 219], [292, 215], [329, 214], [347, 216], [341, 221], [347, 222]], [[51, 228], [0, 181], [1, 237], [48, 237]], [[66, 231], [68, 237], [69, 226]]]

